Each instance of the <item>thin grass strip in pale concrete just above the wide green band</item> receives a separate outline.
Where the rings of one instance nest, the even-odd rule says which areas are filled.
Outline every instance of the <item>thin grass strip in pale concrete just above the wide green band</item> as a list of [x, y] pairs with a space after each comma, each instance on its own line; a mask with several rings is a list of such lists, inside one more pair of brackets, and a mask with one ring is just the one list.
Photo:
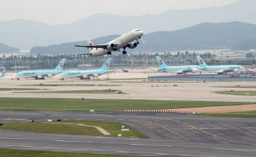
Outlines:
[[[120, 93], [119, 93], [120, 92]], [[15, 92], [15, 93], [58, 93], [58, 94], [126, 94], [120, 90], [72, 90], [72, 91], [46, 91], [46, 92]]]

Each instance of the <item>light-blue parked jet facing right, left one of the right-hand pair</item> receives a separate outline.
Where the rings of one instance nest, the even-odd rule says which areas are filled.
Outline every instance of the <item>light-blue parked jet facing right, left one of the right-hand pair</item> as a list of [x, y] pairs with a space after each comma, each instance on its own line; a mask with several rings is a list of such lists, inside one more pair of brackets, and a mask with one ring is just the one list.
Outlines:
[[198, 72], [198, 65], [184, 65], [184, 66], [167, 66], [162, 59], [157, 56], [157, 61], [159, 63], [158, 71], [177, 71], [178, 73], [196, 73]]

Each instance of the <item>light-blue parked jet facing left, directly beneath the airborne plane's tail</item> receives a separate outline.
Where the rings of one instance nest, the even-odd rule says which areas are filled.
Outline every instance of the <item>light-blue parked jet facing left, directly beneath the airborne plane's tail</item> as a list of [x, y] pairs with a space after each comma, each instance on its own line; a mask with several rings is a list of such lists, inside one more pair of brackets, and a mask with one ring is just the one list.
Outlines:
[[90, 77], [97, 78], [103, 74], [109, 73], [108, 67], [110, 65], [111, 58], [109, 58], [99, 70], [88, 70], [88, 71], [65, 71], [61, 73], [61, 78], [80, 78], [90, 79]]

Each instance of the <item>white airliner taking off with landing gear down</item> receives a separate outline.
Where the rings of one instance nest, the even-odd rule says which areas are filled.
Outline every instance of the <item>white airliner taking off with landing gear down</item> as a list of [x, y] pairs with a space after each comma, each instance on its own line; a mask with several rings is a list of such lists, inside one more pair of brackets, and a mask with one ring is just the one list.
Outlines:
[[[120, 52], [120, 49], [124, 49], [122, 53], [127, 54], [125, 49], [126, 48], [135, 49], [135, 47], [137, 47], [138, 44], [140, 44], [138, 39], [140, 39], [141, 36], [143, 36], [143, 31], [141, 31], [140, 29], [135, 29], [135, 30], [129, 31], [128, 33], [125, 33], [123, 36], [119, 36], [117, 39], [113, 39], [113, 41], [110, 41], [107, 44], [94, 45], [91, 43], [91, 41], [88, 40], [87, 44], [89, 45], [76, 45], [76, 44], [74, 45], [75, 47], [86, 47], [90, 49], [89, 54], [79, 54], [79, 55], [88, 55], [90, 57], [111, 55], [111, 52], [113, 51]], [[136, 42], [130, 43], [135, 40]]]

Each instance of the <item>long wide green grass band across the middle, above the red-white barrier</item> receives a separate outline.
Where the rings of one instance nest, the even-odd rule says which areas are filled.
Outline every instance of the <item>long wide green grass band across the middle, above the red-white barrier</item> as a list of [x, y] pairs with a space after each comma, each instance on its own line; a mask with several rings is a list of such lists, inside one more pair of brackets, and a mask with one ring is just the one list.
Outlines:
[[88, 110], [161, 110], [208, 106], [250, 105], [255, 102], [206, 102], [176, 100], [104, 100], [64, 98], [0, 97], [0, 110], [75, 111]]

